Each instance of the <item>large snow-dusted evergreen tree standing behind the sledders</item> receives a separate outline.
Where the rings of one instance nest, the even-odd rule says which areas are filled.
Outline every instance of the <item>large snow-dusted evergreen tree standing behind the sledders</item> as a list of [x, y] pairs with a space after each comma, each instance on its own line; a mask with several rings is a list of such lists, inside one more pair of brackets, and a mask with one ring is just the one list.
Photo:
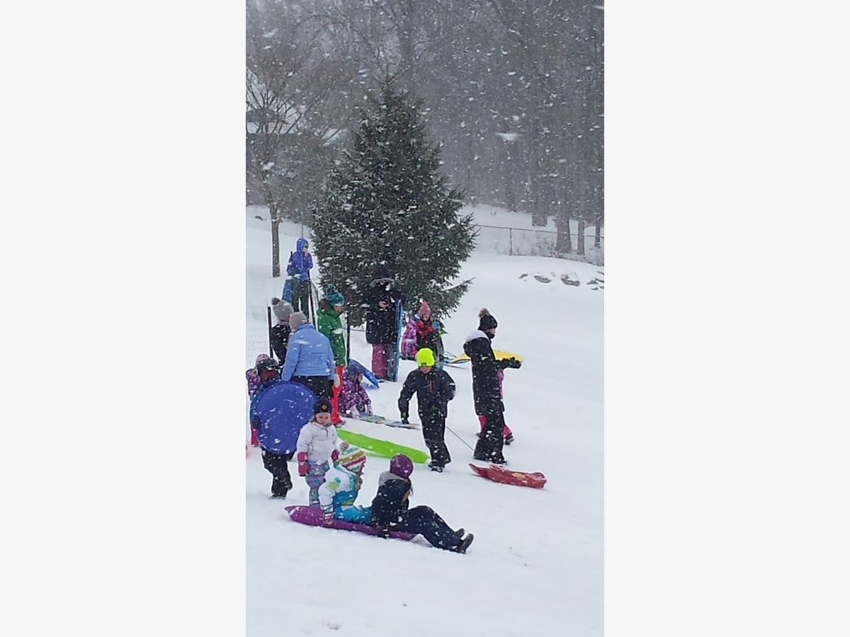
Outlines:
[[420, 108], [384, 84], [314, 209], [321, 279], [343, 292], [349, 324], [363, 322], [378, 266], [405, 291], [406, 309], [424, 298], [444, 318], [471, 283], [452, 282], [473, 250], [473, 217], [457, 214], [463, 193], [439, 172], [439, 144], [428, 143]]

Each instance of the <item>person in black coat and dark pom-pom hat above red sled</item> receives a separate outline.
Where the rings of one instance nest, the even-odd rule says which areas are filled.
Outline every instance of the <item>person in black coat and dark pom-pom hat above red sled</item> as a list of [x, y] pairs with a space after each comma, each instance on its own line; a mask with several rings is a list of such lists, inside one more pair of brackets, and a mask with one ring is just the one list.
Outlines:
[[486, 418], [473, 458], [504, 465], [505, 456], [501, 449], [504, 443], [502, 430], [505, 427], [505, 405], [501, 402], [498, 371], [506, 367], [519, 369], [520, 363], [516, 358], [496, 360], [493, 347], [490, 346], [490, 341], [496, 336], [496, 327], [496, 317], [485, 307], [479, 312], [479, 329], [467, 336], [463, 352], [473, 366], [475, 413]]

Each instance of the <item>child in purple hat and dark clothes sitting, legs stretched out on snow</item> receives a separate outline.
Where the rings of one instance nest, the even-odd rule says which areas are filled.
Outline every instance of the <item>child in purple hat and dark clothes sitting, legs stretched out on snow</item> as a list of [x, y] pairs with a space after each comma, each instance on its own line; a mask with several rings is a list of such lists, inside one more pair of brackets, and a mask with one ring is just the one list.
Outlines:
[[371, 523], [378, 535], [386, 538], [390, 531], [421, 533], [438, 549], [466, 553], [473, 543], [472, 533], [463, 538], [462, 528], [453, 531], [429, 506], [409, 508], [412, 472], [413, 461], [405, 454], [397, 454], [389, 461], [389, 471], [378, 478], [377, 494], [371, 505]]

